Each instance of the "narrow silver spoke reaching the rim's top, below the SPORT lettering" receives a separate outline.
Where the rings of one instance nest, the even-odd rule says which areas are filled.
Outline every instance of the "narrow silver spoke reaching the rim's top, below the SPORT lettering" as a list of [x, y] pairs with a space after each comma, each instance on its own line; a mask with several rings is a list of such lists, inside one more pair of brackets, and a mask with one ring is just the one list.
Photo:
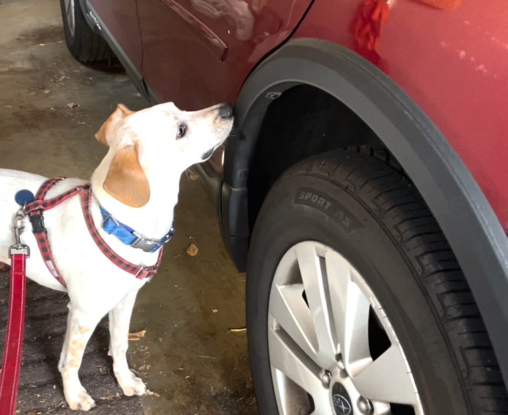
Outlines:
[[296, 256], [317, 337], [317, 359], [322, 367], [328, 368], [335, 364], [337, 336], [325, 261], [317, 255], [313, 243], [298, 245]]

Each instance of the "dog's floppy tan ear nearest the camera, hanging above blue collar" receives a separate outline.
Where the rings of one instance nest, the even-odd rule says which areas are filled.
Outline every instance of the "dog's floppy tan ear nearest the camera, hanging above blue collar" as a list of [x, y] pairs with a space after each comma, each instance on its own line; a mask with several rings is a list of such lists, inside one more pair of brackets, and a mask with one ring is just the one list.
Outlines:
[[132, 208], [141, 208], [150, 199], [150, 185], [139, 163], [138, 143], [118, 150], [111, 160], [104, 190]]

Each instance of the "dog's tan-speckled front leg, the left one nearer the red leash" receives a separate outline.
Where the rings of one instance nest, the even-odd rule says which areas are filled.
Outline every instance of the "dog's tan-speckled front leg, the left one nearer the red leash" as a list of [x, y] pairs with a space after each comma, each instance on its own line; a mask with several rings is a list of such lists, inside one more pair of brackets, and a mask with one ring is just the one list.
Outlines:
[[101, 316], [89, 315], [69, 303], [67, 333], [63, 343], [58, 370], [63, 379], [63, 393], [71, 409], [89, 410], [96, 406], [79, 381], [78, 371], [83, 359], [86, 343]]

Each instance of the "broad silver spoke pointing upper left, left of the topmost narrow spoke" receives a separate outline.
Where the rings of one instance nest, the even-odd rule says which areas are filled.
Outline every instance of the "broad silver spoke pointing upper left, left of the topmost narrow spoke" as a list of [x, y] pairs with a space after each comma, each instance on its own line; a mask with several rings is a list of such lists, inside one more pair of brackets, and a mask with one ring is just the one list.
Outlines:
[[317, 338], [302, 292], [303, 284], [274, 284], [270, 293], [270, 313], [298, 347], [315, 361]]

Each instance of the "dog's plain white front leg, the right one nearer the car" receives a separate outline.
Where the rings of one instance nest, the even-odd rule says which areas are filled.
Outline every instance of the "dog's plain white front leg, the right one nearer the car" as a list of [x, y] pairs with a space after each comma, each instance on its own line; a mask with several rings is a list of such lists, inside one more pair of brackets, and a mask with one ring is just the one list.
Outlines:
[[113, 357], [113, 372], [118, 384], [127, 396], [146, 393], [145, 384], [131, 372], [126, 357], [129, 347], [129, 324], [137, 293], [138, 289], [129, 292], [109, 312], [109, 334], [111, 337], [109, 354]]

